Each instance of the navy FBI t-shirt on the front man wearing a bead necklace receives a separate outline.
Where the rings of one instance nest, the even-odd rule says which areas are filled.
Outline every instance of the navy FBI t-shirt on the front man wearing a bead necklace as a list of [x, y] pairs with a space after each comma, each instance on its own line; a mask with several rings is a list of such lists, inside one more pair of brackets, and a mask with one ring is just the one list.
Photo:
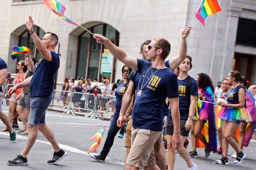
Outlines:
[[[132, 127], [135, 129], [162, 131], [165, 99], [167, 96], [169, 98], [179, 97], [177, 76], [170, 68], [158, 70], [151, 67], [148, 70], [152, 65], [151, 62], [141, 59], [137, 59], [137, 61], [140, 81], [132, 110]], [[145, 75], [147, 70], [148, 73]], [[152, 74], [154, 75], [149, 80]], [[142, 89], [141, 95], [138, 96], [144, 76], [143, 86], [148, 82]]]

